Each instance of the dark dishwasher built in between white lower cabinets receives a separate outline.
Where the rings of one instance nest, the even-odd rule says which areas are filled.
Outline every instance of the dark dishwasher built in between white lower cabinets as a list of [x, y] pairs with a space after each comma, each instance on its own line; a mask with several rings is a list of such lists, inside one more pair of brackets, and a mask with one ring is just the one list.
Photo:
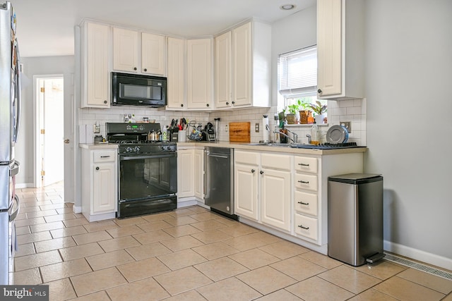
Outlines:
[[213, 212], [237, 220], [234, 214], [234, 149], [206, 147], [204, 162], [206, 205]]

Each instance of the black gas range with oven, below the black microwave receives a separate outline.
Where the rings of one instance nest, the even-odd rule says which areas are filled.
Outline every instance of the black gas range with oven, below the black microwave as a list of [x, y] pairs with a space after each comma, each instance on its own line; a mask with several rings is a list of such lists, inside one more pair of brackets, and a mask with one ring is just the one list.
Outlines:
[[148, 140], [159, 123], [105, 123], [107, 140], [118, 143], [119, 219], [177, 207], [176, 142]]

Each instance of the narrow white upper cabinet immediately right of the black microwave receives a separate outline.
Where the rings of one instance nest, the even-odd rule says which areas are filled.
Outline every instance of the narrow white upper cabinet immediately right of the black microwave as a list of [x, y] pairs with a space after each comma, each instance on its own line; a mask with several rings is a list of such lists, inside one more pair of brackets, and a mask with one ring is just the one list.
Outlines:
[[185, 109], [185, 40], [168, 37], [167, 109]]

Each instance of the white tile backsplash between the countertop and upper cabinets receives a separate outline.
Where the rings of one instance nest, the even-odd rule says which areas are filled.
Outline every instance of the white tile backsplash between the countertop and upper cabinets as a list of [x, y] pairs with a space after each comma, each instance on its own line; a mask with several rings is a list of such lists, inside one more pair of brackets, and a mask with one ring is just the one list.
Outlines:
[[[215, 124], [214, 118], [220, 119], [220, 141], [229, 140], [229, 132], [226, 125], [230, 122], [249, 121], [251, 122], [251, 142], [258, 142], [263, 139], [262, 118], [268, 115], [270, 129], [275, 127], [274, 116], [277, 113], [276, 106], [270, 108], [235, 109], [229, 111], [168, 111], [164, 109], [143, 108], [141, 106], [114, 106], [109, 109], [84, 108], [78, 111], [79, 135], [81, 143], [93, 142], [93, 125], [100, 123], [100, 135], [105, 137], [106, 122], [124, 122], [124, 114], [135, 114], [136, 121], [143, 120], [143, 117], [155, 119], [162, 128], [170, 125], [173, 118], [180, 120], [184, 117], [187, 121], [196, 121], [205, 125], [207, 122]], [[331, 125], [338, 125], [340, 121], [351, 121], [352, 131], [349, 134], [349, 142], [357, 142], [357, 145], [366, 145], [366, 99], [350, 99], [341, 101], [328, 101], [328, 125], [320, 128], [323, 133], [323, 141], [328, 128]], [[255, 124], [259, 123], [260, 131], [256, 133]], [[86, 128], [86, 131], [85, 131]], [[311, 125], [287, 125], [287, 128], [299, 136], [299, 142], [307, 143], [306, 135], [310, 133]], [[85, 133], [85, 135], [83, 135]], [[85, 139], [85, 141], [83, 140]], [[273, 135], [270, 135], [273, 140]]]

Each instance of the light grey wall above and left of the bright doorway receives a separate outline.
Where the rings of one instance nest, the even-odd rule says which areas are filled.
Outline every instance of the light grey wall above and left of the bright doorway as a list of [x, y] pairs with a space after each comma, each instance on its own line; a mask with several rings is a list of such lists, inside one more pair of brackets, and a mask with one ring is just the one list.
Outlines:
[[33, 111], [33, 75], [64, 75], [65, 106], [71, 102], [71, 74], [74, 72], [73, 56], [46, 56], [22, 58], [25, 79], [23, 80], [22, 114], [16, 158], [20, 161], [20, 173], [16, 181], [19, 187], [32, 187], [35, 166], [33, 135], [35, 132], [35, 112]]

